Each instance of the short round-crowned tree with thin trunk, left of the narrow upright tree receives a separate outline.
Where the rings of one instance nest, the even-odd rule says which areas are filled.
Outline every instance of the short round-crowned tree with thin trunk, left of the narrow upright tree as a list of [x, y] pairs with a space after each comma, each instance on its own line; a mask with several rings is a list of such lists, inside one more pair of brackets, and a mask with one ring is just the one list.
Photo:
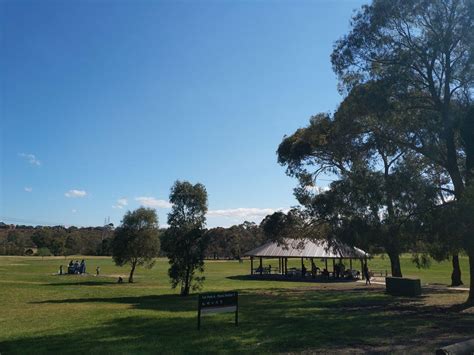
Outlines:
[[112, 258], [115, 264], [130, 264], [128, 282], [133, 282], [137, 266], [151, 268], [160, 250], [158, 217], [151, 208], [128, 211], [122, 225], [115, 230], [112, 240]]

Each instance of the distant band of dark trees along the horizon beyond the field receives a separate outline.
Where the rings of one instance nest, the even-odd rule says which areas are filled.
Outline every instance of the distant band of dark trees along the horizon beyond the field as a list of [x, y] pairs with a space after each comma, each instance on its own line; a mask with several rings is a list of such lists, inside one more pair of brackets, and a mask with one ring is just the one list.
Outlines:
[[[206, 234], [209, 259], [238, 259], [265, 240], [261, 228], [251, 222], [208, 229]], [[65, 228], [0, 222], [0, 255], [111, 255], [113, 236], [113, 224]]]

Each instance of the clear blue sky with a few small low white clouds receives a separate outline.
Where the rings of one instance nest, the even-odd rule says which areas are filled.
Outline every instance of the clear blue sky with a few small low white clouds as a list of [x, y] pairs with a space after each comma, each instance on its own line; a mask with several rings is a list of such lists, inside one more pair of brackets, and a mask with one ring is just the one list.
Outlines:
[[176, 179], [206, 186], [210, 227], [296, 205], [276, 149], [337, 107], [362, 3], [2, 1], [0, 220], [163, 225]]

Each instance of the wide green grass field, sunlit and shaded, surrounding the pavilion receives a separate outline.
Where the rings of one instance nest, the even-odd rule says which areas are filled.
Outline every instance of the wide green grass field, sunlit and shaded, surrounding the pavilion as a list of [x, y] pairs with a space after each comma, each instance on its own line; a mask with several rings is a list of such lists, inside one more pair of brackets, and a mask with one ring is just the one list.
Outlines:
[[[196, 330], [197, 297], [170, 289], [167, 262], [138, 269], [135, 284], [117, 284], [127, 269], [87, 257], [88, 272], [57, 276], [63, 258], [0, 257], [0, 353], [433, 351], [474, 336], [466, 292], [426, 286], [418, 299], [384, 294], [383, 286], [248, 280], [249, 263], [206, 262], [203, 291], [238, 290], [240, 325], [231, 314], [206, 315]], [[294, 261], [298, 264], [298, 261]], [[273, 266], [277, 261], [270, 262]], [[461, 258], [468, 280], [467, 260]], [[448, 262], [406, 276], [448, 284]], [[388, 268], [375, 258], [373, 269]]]

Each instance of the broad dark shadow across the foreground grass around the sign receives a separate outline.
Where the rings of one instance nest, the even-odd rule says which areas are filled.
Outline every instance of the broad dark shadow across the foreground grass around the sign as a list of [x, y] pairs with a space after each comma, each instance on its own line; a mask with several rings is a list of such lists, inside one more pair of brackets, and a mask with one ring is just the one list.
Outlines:
[[[64, 299], [37, 304], [119, 303], [139, 310], [71, 333], [0, 343], [3, 353], [433, 351], [473, 335], [474, 315], [438, 312], [422, 299], [380, 289], [239, 290], [240, 325], [232, 314], [206, 315], [196, 330], [196, 295]], [[173, 313], [169, 313], [173, 312]]]

